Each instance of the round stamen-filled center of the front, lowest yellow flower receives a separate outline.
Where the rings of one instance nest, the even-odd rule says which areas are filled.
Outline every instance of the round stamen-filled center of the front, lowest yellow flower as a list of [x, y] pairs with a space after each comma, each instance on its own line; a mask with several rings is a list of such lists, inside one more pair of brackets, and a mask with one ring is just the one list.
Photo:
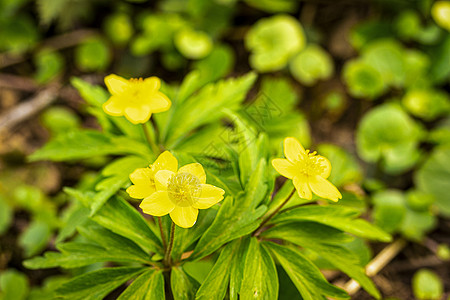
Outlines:
[[177, 206], [192, 206], [202, 191], [200, 179], [191, 173], [179, 173], [169, 179], [167, 193]]

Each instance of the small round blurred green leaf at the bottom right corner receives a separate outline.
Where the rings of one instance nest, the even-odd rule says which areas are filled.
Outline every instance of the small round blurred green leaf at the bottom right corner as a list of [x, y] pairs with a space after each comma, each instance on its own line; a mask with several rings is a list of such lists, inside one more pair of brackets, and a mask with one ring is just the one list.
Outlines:
[[417, 271], [412, 279], [414, 296], [419, 300], [442, 299], [444, 287], [439, 276], [427, 269]]

